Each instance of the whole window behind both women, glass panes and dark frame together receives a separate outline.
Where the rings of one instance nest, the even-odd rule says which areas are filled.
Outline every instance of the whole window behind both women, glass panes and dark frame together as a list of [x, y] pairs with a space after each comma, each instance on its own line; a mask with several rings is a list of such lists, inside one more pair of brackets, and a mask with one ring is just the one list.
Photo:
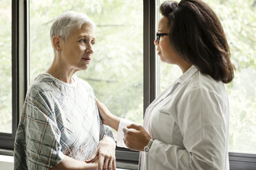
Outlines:
[[[182, 75], [178, 66], [160, 62], [155, 54], [153, 41], [162, 1], [1, 0], [0, 148], [13, 149], [28, 84], [50, 66], [54, 57], [50, 26], [66, 10], [84, 12], [97, 25], [93, 60], [89, 69], [77, 73], [78, 77], [91, 84], [96, 97], [111, 112], [142, 123], [145, 108]], [[204, 1], [224, 27], [231, 59], [237, 68], [235, 79], [226, 85], [231, 104], [231, 169], [253, 167], [256, 165], [256, 3]], [[136, 151], [118, 148], [116, 157], [138, 164]]]

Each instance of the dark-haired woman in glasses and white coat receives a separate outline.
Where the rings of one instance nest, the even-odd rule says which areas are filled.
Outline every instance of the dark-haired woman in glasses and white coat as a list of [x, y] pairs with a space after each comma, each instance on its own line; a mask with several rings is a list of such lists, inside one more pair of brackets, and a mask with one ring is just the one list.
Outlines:
[[200, 0], [160, 6], [155, 45], [163, 62], [183, 75], [147, 108], [143, 126], [111, 114], [98, 103], [103, 123], [140, 151], [139, 169], [229, 169], [230, 51], [219, 19]]

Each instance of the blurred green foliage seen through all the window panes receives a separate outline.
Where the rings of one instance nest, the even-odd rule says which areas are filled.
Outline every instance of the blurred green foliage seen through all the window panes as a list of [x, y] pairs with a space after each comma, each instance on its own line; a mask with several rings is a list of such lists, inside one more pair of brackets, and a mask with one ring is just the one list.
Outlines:
[[[235, 64], [235, 79], [226, 85], [230, 99], [231, 151], [256, 154], [256, 1], [206, 0], [219, 17]], [[30, 0], [31, 81], [52, 62], [50, 26], [66, 10], [87, 14], [97, 25], [94, 56], [78, 73], [111, 112], [142, 123], [143, 1]], [[11, 5], [0, 1], [0, 132], [11, 127]], [[9, 10], [8, 10], [9, 9]], [[153, 43], [153, 42], [152, 42]], [[181, 75], [177, 66], [160, 64], [160, 91]]]

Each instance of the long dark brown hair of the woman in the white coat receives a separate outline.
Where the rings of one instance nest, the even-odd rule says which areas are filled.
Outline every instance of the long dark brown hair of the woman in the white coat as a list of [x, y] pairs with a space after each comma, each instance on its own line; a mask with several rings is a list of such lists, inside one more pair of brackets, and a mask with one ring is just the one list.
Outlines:
[[229, 83], [234, 77], [231, 53], [215, 12], [203, 1], [165, 1], [160, 13], [168, 19], [169, 40], [184, 60], [214, 80]]

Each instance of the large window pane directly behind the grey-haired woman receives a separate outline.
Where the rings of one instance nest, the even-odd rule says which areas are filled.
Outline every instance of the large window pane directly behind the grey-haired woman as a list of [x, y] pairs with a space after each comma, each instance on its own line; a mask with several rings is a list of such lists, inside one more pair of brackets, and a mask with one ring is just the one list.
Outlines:
[[50, 27], [66, 10], [85, 12], [97, 25], [92, 62], [78, 77], [111, 112], [142, 123], [143, 1], [30, 1], [31, 81], [52, 62]]

